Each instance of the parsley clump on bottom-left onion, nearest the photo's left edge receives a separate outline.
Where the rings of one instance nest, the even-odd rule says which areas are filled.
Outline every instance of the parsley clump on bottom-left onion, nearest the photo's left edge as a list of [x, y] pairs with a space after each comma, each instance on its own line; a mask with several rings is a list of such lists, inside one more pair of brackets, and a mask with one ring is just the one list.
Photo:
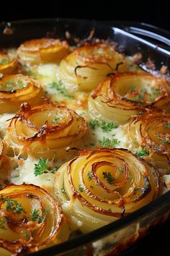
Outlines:
[[20, 213], [26, 213], [22, 204], [18, 203], [17, 200], [10, 199], [9, 197], [2, 197], [1, 202], [6, 202], [6, 210], [12, 211], [14, 213], [20, 214]]

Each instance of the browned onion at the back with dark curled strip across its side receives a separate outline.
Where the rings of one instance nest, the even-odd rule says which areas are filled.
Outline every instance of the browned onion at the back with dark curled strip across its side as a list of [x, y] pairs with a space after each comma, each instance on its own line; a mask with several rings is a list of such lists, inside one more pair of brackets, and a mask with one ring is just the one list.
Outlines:
[[125, 60], [111, 43], [81, 46], [61, 61], [58, 80], [68, 88], [92, 90], [104, 77], [125, 69]]

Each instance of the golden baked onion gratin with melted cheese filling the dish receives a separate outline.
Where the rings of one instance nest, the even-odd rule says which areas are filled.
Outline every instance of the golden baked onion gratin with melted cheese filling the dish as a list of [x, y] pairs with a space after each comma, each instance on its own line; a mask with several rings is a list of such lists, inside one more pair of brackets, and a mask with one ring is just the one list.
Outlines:
[[99, 39], [0, 52], [0, 255], [65, 242], [169, 189], [170, 83], [136, 57]]

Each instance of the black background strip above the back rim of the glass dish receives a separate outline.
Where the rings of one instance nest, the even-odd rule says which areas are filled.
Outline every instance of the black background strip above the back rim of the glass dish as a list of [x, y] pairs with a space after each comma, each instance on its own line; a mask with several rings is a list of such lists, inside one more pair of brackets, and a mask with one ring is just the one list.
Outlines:
[[0, 22], [43, 17], [146, 22], [170, 30], [168, 0], [0, 1]]

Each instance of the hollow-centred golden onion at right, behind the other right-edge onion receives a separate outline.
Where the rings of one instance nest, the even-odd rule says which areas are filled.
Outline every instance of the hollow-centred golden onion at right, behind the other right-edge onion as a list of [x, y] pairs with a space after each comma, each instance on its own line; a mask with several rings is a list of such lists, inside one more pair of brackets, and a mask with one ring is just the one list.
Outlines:
[[89, 114], [120, 124], [141, 108], [169, 108], [169, 82], [144, 73], [111, 75], [89, 97]]

